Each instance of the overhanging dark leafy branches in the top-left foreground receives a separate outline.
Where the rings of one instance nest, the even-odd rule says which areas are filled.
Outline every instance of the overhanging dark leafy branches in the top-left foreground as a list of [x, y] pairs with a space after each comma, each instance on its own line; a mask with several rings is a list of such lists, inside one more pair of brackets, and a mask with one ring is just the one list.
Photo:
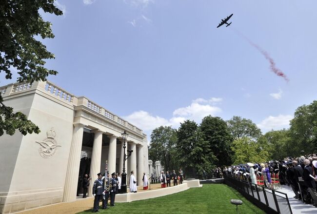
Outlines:
[[[43, 59], [55, 58], [46, 50], [46, 46], [35, 36], [42, 39], [54, 38], [51, 23], [44, 21], [39, 9], [59, 16], [62, 12], [54, 6], [54, 0], [2, 0], [0, 3], [0, 72], [5, 78], [11, 79], [10, 68], [19, 72], [19, 82], [46, 80], [48, 75], [56, 75], [57, 71], [48, 70]], [[26, 135], [39, 133], [38, 126], [18, 112], [13, 114], [11, 107], [3, 104], [0, 95], [0, 136], [4, 131], [13, 135], [16, 129]]]

